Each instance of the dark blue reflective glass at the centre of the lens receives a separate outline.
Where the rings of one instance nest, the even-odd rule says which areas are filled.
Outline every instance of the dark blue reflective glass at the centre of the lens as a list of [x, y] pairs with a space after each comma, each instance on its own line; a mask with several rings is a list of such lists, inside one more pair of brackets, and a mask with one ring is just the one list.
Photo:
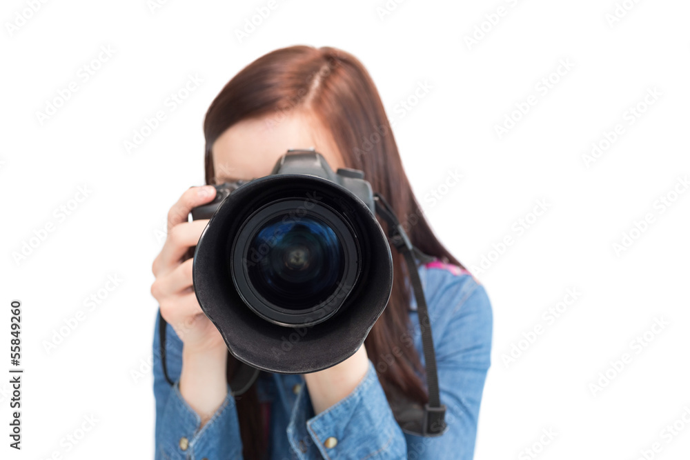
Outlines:
[[264, 299], [286, 310], [326, 301], [344, 272], [342, 244], [317, 217], [277, 216], [264, 223], [249, 245], [255, 261], [250, 283]]

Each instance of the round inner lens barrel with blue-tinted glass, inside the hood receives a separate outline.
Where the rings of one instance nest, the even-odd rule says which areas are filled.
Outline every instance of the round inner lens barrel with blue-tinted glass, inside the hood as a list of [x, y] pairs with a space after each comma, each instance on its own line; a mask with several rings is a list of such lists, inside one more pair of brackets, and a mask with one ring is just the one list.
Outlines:
[[232, 247], [230, 277], [237, 292], [253, 312], [280, 326], [326, 321], [359, 277], [351, 224], [325, 203], [266, 203], [244, 219]]

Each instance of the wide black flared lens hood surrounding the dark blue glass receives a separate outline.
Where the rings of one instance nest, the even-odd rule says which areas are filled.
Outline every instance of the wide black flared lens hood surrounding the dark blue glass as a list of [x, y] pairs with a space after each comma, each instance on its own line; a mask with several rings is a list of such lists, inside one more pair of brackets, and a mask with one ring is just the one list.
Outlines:
[[[344, 246], [348, 276], [311, 317], [284, 312], [288, 320], [279, 321], [265, 314], [266, 299], [248, 294], [247, 266], [256, 261], [247, 247], [257, 233], [248, 223], [265, 222], [271, 209], [321, 219]], [[391, 295], [393, 261], [370, 206], [351, 190], [316, 175], [272, 174], [221, 201], [197, 243], [193, 283], [201, 310], [234, 357], [268, 372], [304, 374], [335, 366], [362, 346]]]

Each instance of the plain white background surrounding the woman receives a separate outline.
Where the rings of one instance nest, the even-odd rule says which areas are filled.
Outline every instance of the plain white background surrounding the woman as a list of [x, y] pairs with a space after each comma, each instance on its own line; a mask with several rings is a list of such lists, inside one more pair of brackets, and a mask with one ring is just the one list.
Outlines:
[[[637, 459], [655, 442], [654, 458], [688, 458], [690, 423], [678, 422], [670, 442], [662, 433], [685, 410], [690, 420], [690, 192], [678, 185], [690, 174], [687, 1], [627, 0], [629, 10], [607, 19], [614, 0], [408, 0], [385, 15], [384, 0], [286, 0], [242, 42], [235, 30], [267, 1], [150, 3], [48, 1], [30, 14], [9, 0], [0, 9], [0, 369], [9, 375], [9, 304], [21, 299], [26, 370], [21, 452], [8, 448], [9, 378], [0, 377], [0, 457], [152, 458], [150, 266], [166, 212], [203, 182], [201, 123], [226, 81], [270, 50], [308, 44], [351, 52], [371, 72], [428, 218], [489, 292], [493, 365], [476, 458], [532, 458], [524, 449], [549, 429], [555, 439], [534, 446], [540, 459]], [[499, 7], [504, 15], [492, 16]], [[114, 54], [84, 82], [79, 69], [101, 46]], [[553, 74], [560, 61], [573, 66]], [[190, 74], [201, 86], [126, 152]], [[77, 92], [41, 123], [37, 112], [71, 81]], [[648, 106], [653, 88], [660, 95]], [[495, 127], [531, 95], [535, 105], [499, 138]], [[415, 105], [403, 110], [408, 98]], [[646, 110], [629, 123], [638, 103]], [[623, 134], [585, 161], [617, 123]], [[84, 186], [88, 198], [58, 219]], [[675, 201], [662, 212], [667, 196]], [[538, 200], [547, 210], [533, 219]], [[648, 213], [653, 222], [633, 230]], [[520, 219], [529, 228], [517, 230]], [[16, 261], [47, 223], [55, 230]], [[635, 239], [617, 251], [624, 233]], [[120, 286], [85, 308], [109, 275]], [[578, 299], [546, 321], [573, 288]], [[47, 351], [79, 310], [85, 319]], [[668, 325], [636, 352], [631, 341], [655, 318]], [[520, 343], [535, 326], [542, 333]], [[522, 354], [506, 365], [513, 345]], [[609, 369], [624, 353], [632, 361]], [[607, 370], [613, 378], [593, 390]], [[90, 416], [95, 427], [68, 451], [66, 437]]]

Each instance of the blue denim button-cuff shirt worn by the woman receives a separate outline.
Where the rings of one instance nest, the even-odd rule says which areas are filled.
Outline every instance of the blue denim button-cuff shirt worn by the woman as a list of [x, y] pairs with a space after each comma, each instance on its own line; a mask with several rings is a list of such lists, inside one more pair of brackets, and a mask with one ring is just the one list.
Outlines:
[[[317, 415], [302, 375], [262, 372], [257, 394], [259, 401], [270, 401], [270, 459], [472, 459], [491, 364], [491, 303], [484, 287], [466, 270], [434, 261], [420, 266], [419, 271], [431, 319], [441, 403], [446, 406], [446, 432], [440, 437], [402, 432], [371, 360], [353, 392]], [[414, 296], [409, 315], [411, 339], [424, 364]], [[226, 399], [199, 428], [201, 419], [179, 392], [182, 343], [168, 325], [166, 360], [168, 376], [175, 382], [170, 386], [163, 374], [159, 340], [156, 324], [155, 459], [242, 459], [237, 408], [229, 386]], [[335, 446], [331, 438], [337, 441]]]

